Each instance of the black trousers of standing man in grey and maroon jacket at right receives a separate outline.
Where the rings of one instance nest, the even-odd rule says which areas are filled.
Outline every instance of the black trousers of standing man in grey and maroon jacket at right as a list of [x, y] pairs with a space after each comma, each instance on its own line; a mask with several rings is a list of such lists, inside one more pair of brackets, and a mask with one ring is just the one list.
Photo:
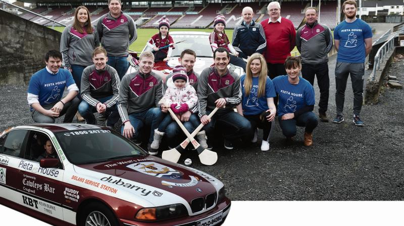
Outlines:
[[301, 76], [314, 84], [314, 76], [320, 88], [319, 112], [325, 114], [328, 109], [328, 97], [330, 91], [330, 78], [328, 76], [328, 62], [323, 64], [302, 64]]

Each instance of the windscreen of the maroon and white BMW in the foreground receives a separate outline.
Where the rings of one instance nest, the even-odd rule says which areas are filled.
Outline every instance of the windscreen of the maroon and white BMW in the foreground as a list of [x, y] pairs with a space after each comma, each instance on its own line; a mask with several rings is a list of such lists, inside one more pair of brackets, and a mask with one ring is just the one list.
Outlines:
[[109, 129], [81, 129], [55, 133], [67, 159], [73, 164], [90, 164], [146, 153]]

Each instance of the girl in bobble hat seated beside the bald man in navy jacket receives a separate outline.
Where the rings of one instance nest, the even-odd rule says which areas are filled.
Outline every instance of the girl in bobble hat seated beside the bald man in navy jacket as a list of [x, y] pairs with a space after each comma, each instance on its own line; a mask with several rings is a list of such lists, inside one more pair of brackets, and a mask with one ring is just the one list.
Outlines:
[[226, 27], [226, 18], [223, 15], [215, 17], [215, 22], [213, 25], [214, 29], [211, 35], [209, 35], [209, 41], [211, 42], [212, 51], [215, 51], [219, 47], [227, 49], [230, 55], [230, 64], [239, 66], [244, 69], [246, 63], [243, 59], [238, 57], [238, 52], [234, 50], [233, 46], [229, 42], [224, 29]]

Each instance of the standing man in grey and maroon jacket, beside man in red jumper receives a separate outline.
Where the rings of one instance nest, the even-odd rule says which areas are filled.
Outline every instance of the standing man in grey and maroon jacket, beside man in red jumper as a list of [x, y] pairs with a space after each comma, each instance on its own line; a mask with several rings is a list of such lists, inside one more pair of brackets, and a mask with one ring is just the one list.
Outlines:
[[301, 26], [296, 33], [296, 47], [301, 55], [301, 74], [310, 84], [314, 84], [314, 76], [317, 75], [317, 83], [320, 88], [319, 117], [323, 122], [328, 122], [327, 108], [330, 89], [328, 77], [328, 52], [332, 48], [332, 34], [330, 28], [319, 24], [317, 9], [306, 9], [306, 24]]

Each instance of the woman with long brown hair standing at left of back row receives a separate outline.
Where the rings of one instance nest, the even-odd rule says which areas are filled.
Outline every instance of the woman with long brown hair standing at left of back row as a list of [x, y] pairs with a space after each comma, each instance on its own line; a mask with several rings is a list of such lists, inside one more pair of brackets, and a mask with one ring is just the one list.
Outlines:
[[[68, 69], [79, 89], [84, 68], [92, 65], [91, 54], [99, 46], [98, 35], [91, 26], [90, 13], [85, 6], [79, 6], [74, 12], [74, 22], [67, 26], [60, 41], [63, 65]], [[80, 95], [78, 96], [81, 100]]]

